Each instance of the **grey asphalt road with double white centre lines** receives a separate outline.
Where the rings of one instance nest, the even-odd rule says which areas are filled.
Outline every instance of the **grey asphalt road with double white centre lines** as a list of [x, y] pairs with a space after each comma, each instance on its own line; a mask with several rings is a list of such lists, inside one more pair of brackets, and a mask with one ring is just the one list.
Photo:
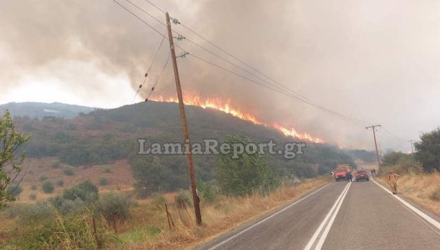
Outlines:
[[440, 218], [410, 204], [419, 214], [373, 181], [333, 182], [199, 249], [440, 249]]

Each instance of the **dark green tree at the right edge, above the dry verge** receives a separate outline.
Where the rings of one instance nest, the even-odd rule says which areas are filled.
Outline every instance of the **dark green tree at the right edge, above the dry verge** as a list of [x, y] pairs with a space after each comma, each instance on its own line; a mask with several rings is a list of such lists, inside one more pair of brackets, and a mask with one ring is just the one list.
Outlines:
[[415, 158], [421, 163], [423, 170], [440, 170], [440, 128], [421, 134], [420, 141], [414, 147]]

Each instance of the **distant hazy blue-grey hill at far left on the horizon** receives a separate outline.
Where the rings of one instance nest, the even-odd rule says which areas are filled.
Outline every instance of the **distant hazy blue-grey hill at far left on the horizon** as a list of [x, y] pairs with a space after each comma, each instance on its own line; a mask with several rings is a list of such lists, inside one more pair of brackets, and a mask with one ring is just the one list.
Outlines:
[[94, 108], [88, 106], [78, 106], [63, 104], [59, 102], [41, 103], [41, 102], [10, 102], [0, 105], [0, 111], [8, 109], [12, 116], [28, 116], [31, 118], [43, 118], [45, 116], [55, 116], [72, 118], [79, 113], [89, 113]]

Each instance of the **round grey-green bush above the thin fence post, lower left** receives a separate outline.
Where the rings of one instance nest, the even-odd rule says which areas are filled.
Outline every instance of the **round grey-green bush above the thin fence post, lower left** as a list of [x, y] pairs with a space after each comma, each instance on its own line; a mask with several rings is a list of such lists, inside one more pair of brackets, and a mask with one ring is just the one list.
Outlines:
[[129, 218], [130, 208], [133, 206], [129, 196], [110, 192], [102, 194], [98, 203], [98, 211], [107, 221], [113, 219], [125, 220]]

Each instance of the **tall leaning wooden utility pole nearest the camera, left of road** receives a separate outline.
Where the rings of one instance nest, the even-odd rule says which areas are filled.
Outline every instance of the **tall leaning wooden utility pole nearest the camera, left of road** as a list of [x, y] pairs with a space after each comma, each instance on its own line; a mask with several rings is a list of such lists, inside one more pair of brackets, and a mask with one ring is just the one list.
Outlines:
[[174, 49], [173, 31], [171, 30], [170, 15], [168, 14], [168, 12], [166, 12], [165, 16], [166, 16], [166, 27], [168, 28], [168, 41], [170, 42], [171, 59], [173, 60], [174, 78], [176, 81], [176, 88], [177, 88], [177, 98], [179, 99], [181, 126], [184, 132], [185, 148], [189, 149], [186, 150], [188, 151], [186, 152], [186, 158], [188, 159], [188, 172], [190, 174], [192, 202], [194, 203], [195, 220], [197, 222], [197, 225], [201, 225], [199, 195], [197, 194], [197, 186], [195, 183], [194, 163], [192, 161], [192, 153], [190, 150], [190, 137], [188, 135], [188, 125], [186, 124], [184, 98], [181, 95], [179, 70], [177, 69], [176, 52]]

